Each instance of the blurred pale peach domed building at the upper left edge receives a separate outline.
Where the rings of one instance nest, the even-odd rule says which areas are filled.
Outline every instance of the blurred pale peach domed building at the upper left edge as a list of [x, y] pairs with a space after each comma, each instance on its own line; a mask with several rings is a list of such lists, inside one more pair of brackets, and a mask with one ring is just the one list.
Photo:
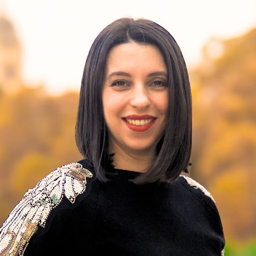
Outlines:
[[0, 15], [0, 92], [13, 93], [20, 89], [22, 49], [12, 22]]

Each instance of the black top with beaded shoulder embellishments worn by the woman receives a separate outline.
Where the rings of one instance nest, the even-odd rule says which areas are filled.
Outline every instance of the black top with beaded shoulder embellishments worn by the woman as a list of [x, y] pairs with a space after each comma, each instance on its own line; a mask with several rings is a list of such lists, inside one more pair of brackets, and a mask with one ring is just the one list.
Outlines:
[[[25, 253], [20, 255], [25, 256], [223, 255], [225, 240], [217, 207], [210, 193], [194, 180], [180, 176], [173, 183], [135, 185], [130, 180], [139, 173], [115, 170], [104, 183], [85, 161], [79, 163], [87, 170], [77, 163], [62, 166], [25, 195], [29, 202], [16, 206], [0, 229], [0, 254], [8, 249], [3, 242], [6, 230], [14, 230], [9, 223], [17, 218], [29, 222], [26, 228], [22, 222], [23, 233], [22, 228], [14, 232], [16, 241], [22, 234]], [[23, 214], [19, 209], [25, 211], [27, 204], [29, 213], [15, 217]], [[37, 213], [30, 213], [35, 205]], [[28, 218], [29, 214], [34, 217]], [[21, 226], [20, 220], [17, 223]]]

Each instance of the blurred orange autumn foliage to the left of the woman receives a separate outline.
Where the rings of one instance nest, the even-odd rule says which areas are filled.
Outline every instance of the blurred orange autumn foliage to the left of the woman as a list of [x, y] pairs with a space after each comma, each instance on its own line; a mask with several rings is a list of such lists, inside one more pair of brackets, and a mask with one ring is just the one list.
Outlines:
[[0, 222], [28, 188], [82, 159], [75, 143], [78, 93], [50, 97], [22, 87], [0, 98]]

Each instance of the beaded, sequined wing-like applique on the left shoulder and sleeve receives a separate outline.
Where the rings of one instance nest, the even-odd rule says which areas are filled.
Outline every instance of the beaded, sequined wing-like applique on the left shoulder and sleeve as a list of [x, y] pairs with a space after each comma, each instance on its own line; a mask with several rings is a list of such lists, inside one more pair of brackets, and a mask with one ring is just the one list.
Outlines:
[[0, 255], [23, 255], [38, 226], [45, 227], [51, 210], [63, 196], [74, 203], [85, 191], [86, 178], [92, 173], [79, 163], [70, 163], [52, 171], [29, 189], [0, 228]]

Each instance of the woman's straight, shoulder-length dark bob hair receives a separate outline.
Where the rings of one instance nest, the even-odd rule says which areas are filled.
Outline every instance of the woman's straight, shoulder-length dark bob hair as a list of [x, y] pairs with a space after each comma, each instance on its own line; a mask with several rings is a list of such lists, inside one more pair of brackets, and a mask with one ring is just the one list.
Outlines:
[[188, 172], [191, 155], [191, 90], [188, 72], [178, 44], [170, 33], [147, 19], [121, 18], [110, 23], [95, 38], [82, 77], [76, 122], [76, 144], [91, 164], [97, 178], [107, 181], [108, 130], [103, 116], [102, 85], [109, 51], [116, 45], [134, 41], [151, 44], [161, 51], [167, 68], [169, 107], [166, 129], [157, 144], [157, 155], [135, 183], [174, 181]]

